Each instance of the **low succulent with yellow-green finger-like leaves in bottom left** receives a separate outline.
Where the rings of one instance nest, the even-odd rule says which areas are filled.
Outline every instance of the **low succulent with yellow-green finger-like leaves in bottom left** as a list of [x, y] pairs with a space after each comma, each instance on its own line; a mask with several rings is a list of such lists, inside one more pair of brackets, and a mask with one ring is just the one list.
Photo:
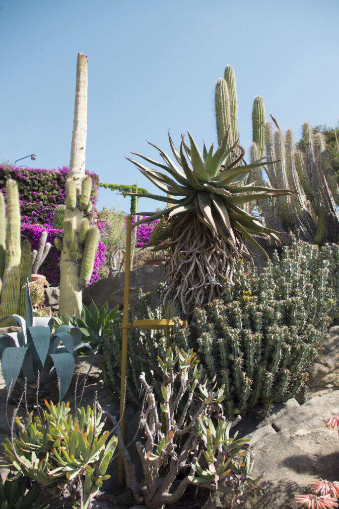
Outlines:
[[[102, 431], [102, 412], [95, 406], [46, 403], [46, 410], [16, 417], [17, 434], [6, 439], [5, 461], [14, 479], [26, 476], [48, 490], [51, 500], [86, 509], [110, 476], [106, 474], [117, 438]], [[14, 426], [14, 423], [13, 423]]]

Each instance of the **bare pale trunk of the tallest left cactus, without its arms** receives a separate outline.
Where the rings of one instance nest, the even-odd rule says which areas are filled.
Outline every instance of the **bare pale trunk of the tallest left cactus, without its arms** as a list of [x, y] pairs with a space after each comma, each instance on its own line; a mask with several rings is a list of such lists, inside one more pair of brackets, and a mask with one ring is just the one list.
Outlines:
[[[71, 146], [71, 160], [69, 179], [76, 187], [75, 208], [69, 206], [65, 211], [65, 221], [70, 220], [73, 230], [73, 241], [78, 243], [80, 223], [83, 210], [79, 208], [81, 184], [85, 177], [85, 154], [87, 135], [87, 58], [83, 53], [78, 54], [77, 82], [74, 108], [74, 124]], [[64, 238], [60, 261], [60, 312], [68, 315], [80, 316], [81, 288], [79, 286], [80, 261], [71, 259], [70, 245]]]

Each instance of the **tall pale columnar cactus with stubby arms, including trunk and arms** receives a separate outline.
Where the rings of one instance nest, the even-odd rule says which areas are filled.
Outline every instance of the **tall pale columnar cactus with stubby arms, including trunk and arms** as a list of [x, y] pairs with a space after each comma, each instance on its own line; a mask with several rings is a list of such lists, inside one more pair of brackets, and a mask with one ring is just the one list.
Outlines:
[[[99, 242], [99, 232], [93, 233], [91, 230], [90, 235], [84, 236], [81, 230], [84, 212], [90, 211], [93, 206], [90, 201], [91, 179], [85, 175], [86, 136], [87, 57], [78, 53], [71, 160], [66, 184], [64, 239], [60, 260], [60, 312], [71, 316], [80, 316], [81, 288], [89, 283]], [[82, 236], [79, 242], [80, 233]]]

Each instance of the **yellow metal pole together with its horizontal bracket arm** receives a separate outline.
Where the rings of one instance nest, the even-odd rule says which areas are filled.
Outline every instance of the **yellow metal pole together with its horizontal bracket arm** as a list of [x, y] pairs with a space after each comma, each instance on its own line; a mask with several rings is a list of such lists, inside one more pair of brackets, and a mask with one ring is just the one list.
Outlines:
[[[125, 257], [125, 282], [124, 282], [124, 314], [119, 328], [122, 330], [122, 350], [121, 350], [121, 387], [120, 387], [120, 422], [121, 436], [125, 440], [125, 383], [127, 375], [127, 350], [128, 350], [128, 329], [163, 329], [174, 325], [173, 320], [135, 320], [128, 321], [129, 300], [130, 300], [130, 270], [131, 270], [131, 235], [132, 235], [132, 216], [126, 218], [126, 257]], [[188, 327], [186, 320], [179, 320], [182, 327]], [[124, 461], [122, 456], [118, 459], [118, 490], [122, 493], [124, 489]]]

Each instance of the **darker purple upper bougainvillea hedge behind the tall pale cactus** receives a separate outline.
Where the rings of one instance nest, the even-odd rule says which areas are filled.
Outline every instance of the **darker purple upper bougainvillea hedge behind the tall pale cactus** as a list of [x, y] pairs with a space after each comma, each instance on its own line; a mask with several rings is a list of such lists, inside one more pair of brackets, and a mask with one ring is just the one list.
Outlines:
[[[98, 200], [99, 177], [86, 172], [93, 182], [91, 201], [93, 211]], [[7, 179], [18, 183], [21, 221], [25, 223], [52, 224], [55, 206], [66, 201], [65, 182], [68, 167], [58, 169], [20, 168], [0, 164], [0, 189], [6, 194]]]

